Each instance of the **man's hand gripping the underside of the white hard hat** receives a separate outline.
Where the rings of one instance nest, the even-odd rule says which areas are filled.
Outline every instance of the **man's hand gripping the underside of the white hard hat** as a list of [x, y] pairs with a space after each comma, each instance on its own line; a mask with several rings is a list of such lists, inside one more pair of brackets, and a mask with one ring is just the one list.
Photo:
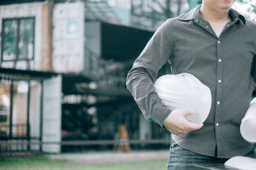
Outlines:
[[195, 112], [192, 110], [173, 110], [172, 113], [164, 120], [164, 127], [176, 134], [177, 136], [184, 136], [191, 131], [196, 131], [203, 127], [203, 124], [192, 124], [186, 120], [185, 116], [193, 115]]

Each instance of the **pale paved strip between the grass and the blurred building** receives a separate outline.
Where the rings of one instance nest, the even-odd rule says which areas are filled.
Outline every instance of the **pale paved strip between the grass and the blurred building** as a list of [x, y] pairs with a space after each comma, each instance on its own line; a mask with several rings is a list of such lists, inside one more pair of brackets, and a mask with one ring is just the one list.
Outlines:
[[114, 152], [85, 152], [85, 153], [60, 153], [49, 155], [51, 159], [67, 160], [72, 162], [117, 162], [134, 160], [168, 160], [169, 151], [132, 151], [130, 153]]

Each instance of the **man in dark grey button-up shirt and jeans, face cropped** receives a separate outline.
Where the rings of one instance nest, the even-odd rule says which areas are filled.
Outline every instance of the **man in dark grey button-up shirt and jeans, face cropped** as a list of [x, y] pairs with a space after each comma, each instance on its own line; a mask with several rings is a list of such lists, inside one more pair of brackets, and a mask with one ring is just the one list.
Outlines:
[[[127, 75], [127, 89], [145, 118], [172, 132], [168, 169], [255, 156], [239, 125], [255, 87], [256, 25], [231, 8], [235, 1], [203, 0], [186, 15], [166, 20]], [[153, 82], [166, 62], [172, 74], [193, 74], [211, 89], [204, 125], [184, 118], [193, 111], [169, 110], [154, 92]]]

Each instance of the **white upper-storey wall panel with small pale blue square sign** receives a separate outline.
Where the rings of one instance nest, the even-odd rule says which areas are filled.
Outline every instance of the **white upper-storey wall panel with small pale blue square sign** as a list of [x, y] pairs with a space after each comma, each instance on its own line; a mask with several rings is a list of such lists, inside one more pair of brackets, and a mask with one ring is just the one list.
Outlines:
[[83, 71], [84, 3], [54, 6], [52, 31], [52, 67], [61, 73]]

